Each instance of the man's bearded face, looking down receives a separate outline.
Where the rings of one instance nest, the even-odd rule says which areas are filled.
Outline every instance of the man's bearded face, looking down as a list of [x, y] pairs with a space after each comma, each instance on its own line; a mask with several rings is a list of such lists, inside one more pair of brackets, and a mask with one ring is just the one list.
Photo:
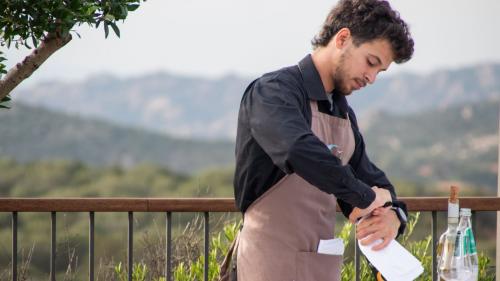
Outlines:
[[345, 47], [333, 73], [334, 88], [343, 95], [375, 82], [377, 74], [392, 63], [392, 49], [387, 40], [377, 39]]

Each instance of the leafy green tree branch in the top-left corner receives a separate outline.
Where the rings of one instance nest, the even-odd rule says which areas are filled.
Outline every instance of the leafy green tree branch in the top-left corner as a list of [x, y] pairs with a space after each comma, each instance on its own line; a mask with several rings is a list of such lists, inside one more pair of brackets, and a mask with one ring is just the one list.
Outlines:
[[[9, 93], [53, 53], [80, 35], [75, 27], [88, 24], [110, 29], [145, 0], [0, 0], [0, 108], [8, 108]], [[31, 54], [7, 70], [5, 48], [26, 47]]]

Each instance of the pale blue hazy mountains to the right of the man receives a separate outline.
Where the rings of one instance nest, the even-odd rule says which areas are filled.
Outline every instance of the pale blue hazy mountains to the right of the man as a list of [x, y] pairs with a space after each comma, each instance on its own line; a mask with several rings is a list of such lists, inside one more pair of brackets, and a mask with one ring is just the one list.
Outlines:
[[349, 97], [364, 116], [377, 111], [398, 114], [447, 109], [500, 98], [500, 64], [485, 64], [428, 75], [398, 74], [381, 78]]

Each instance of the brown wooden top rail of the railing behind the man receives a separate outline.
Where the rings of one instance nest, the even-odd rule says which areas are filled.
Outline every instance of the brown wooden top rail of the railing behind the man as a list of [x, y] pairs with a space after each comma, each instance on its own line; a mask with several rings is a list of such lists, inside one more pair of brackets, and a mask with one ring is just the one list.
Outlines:
[[[400, 197], [408, 211], [446, 211], [446, 197]], [[500, 211], [500, 197], [461, 197], [460, 206]], [[338, 207], [337, 207], [338, 209]], [[0, 198], [0, 212], [238, 212], [232, 198]]]

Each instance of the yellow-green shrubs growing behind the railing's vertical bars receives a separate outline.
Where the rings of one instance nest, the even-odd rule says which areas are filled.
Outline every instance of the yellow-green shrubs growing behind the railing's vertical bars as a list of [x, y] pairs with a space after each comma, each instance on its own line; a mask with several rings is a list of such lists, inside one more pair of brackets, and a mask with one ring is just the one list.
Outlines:
[[[427, 236], [422, 240], [410, 239], [415, 226], [420, 218], [420, 213], [410, 215], [407, 230], [405, 234], [400, 237], [399, 242], [408, 249], [417, 259], [420, 260], [424, 267], [424, 273], [419, 276], [418, 281], [431, 281], [432, 280], [432, 256], [431, 236]], [[222, 230], [213, 233], [210, 240], [209, 251], [209, 272], [208, 280], [217, 281], [219, 276], [220, 264], [226, 256], [229, 246], [235, 239], [238, 230], [240, 229], [241, 221], [226, 223]], [[340, 230], [338, 237], [344, 240], [344, 245], [347, 248], [353, 243], [353, 225], [346, 222]], [[175, 281], [201, 281], [204, 277], [204, 256], [199, 254], [201, 252], [201, 239], [199, 232], [202, 229], [202, 222], [198, 218], [190, 222], [184, 231], [174, 241], [174, 253], [177, 254], [173, 258], [173, 279]], [[165, 261], [164, 249], [165, 244], [162, 243], [162, 237], [153, 239], [147, 237], [145, 241], [145, 257], [141, 262], [135, 263], [132, 270], [133, 281], [166, 281], [164, 271], [159, 270], [161, 264]], [[149, 241], [152, 240], [152, 241]], [[156, 246], [152, 246], [156, 245]], [[23, 259], [24, 260], [24, 259]], [[160, 262], [159, 262], [160, 261]], [[22, 264], [29, 264], [23, 262]], [[493, 281], [495, 280], [495, 268], [490, 265], [491, 260], [484, 253], [479, 254], [479, 280], [480, 281]], [[24, 268], [24, 267], [23, 267]], [[111, 270], [110, 270], [111, 269]], [[25, 270], [23, 270], [25, 271]], [[104, 276], [104, 280], [108, 281], [124, 281], [127, 280], [127, 268], [121, 262], [115, 263], [109, 261], [105, 265], [101, 264], [99, 268], [97, 280], [99, 277]], [[66, 273], [67, 274], [67, 273]], [[25, 275], [23, 273], [23, 275]], [[361, 280], [375, 280], [372, 271], [368, 266], [366, 259], [361, 259], [360, 268]], [[0, 274], [0, 281], [9, 280], [9, 272]], [[27, 280], [20, 279], [20, 280]], [[351, 255], [344, 256], [344, 266], [342, 268], [342, 280], [350, 281], [355, 279], [354, 261]], [[66, 278], [65, 278], [66, 280]]]

